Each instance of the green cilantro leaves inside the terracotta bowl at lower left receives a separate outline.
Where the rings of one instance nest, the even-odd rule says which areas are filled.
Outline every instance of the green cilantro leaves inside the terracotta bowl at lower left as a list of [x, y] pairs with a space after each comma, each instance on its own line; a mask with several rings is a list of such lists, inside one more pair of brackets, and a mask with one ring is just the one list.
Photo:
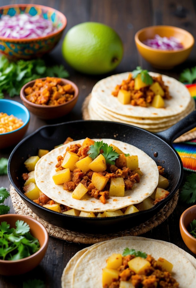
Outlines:
[[18, 260], [28, 257], [40, 249], [38, 239], [29, 233], [30, 227], [22, 220], [16, 221], [16, 228], [7, 222], [0, 225], [0, 259]]

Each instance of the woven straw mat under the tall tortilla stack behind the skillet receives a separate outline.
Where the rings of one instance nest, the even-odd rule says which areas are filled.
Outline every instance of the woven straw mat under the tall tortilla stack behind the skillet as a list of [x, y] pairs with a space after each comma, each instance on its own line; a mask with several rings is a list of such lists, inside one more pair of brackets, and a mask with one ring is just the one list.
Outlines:
[[[89, 115], [89, 111], [88, 111], [88, 105], [89, 105], [90, 99], [91, 99], [91, 93], [84, 99], [84, 102], [82, 104], [82, 118], [84, 120], [91, 120], [90, 115]], [[192, 129], [192, 130], [186, 132], [185, 134], [182, 134], [174, 142], [175, 143], [184, 142], [184, 141], [189, 141], [189, 140], [194, 139], [194, 138], [196, 138], [196, 130], [193, 131], [193, 129]]]

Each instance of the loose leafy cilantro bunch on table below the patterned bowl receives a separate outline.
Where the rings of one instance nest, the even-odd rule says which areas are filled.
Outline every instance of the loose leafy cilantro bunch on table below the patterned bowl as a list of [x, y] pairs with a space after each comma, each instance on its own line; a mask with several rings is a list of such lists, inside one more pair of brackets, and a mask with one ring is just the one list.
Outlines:
[[20, 89], [29, 81], [41, 77], [67, 78], [69, 73], [63, 65], [47, 67], [44, 60], [18, 60], [9, 62], [5, 56], [0, 57], [0, 98], [4, 98], [3, 92], [10, 97], [20, 94]]

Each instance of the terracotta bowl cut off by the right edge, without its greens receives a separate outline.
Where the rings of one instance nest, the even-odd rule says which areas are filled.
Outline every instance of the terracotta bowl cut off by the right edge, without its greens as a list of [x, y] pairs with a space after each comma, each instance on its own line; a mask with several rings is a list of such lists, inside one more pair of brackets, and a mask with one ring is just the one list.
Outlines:
[[196, 205], [189, 207], [185, 210], [180, 217], [180, 233], [183, 241], [187, 247], [196, 254], [196, 238], [194, 238], [188, 231], [191, 221], [196, 219]]

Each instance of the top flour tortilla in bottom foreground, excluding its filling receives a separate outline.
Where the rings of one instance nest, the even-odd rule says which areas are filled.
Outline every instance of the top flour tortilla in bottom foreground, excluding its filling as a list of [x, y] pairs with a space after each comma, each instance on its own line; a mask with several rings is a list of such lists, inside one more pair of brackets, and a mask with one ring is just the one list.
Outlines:
[[64, 277], [66, 276], [63, 273], [62, 288], [102, 288], [102, 269], [106, 266], [106, 259], [112, 253], [122, 254], [126, 247], [151, 254], [155, 259], [165, 258], [173, 264], [172, 276], [180, 287], [195, 287], [196, 263], [194, 257], [171, 243], [130, 236], [109, 240], [99, 246], [95, 244], [84, 251], [82, 256], [80, 251], [78, 261], [74, 261], [74, 268], [69, 271], [69, 276], [72, 275], [71, 284], [69, 280], [69, 285], [65, 285]]

